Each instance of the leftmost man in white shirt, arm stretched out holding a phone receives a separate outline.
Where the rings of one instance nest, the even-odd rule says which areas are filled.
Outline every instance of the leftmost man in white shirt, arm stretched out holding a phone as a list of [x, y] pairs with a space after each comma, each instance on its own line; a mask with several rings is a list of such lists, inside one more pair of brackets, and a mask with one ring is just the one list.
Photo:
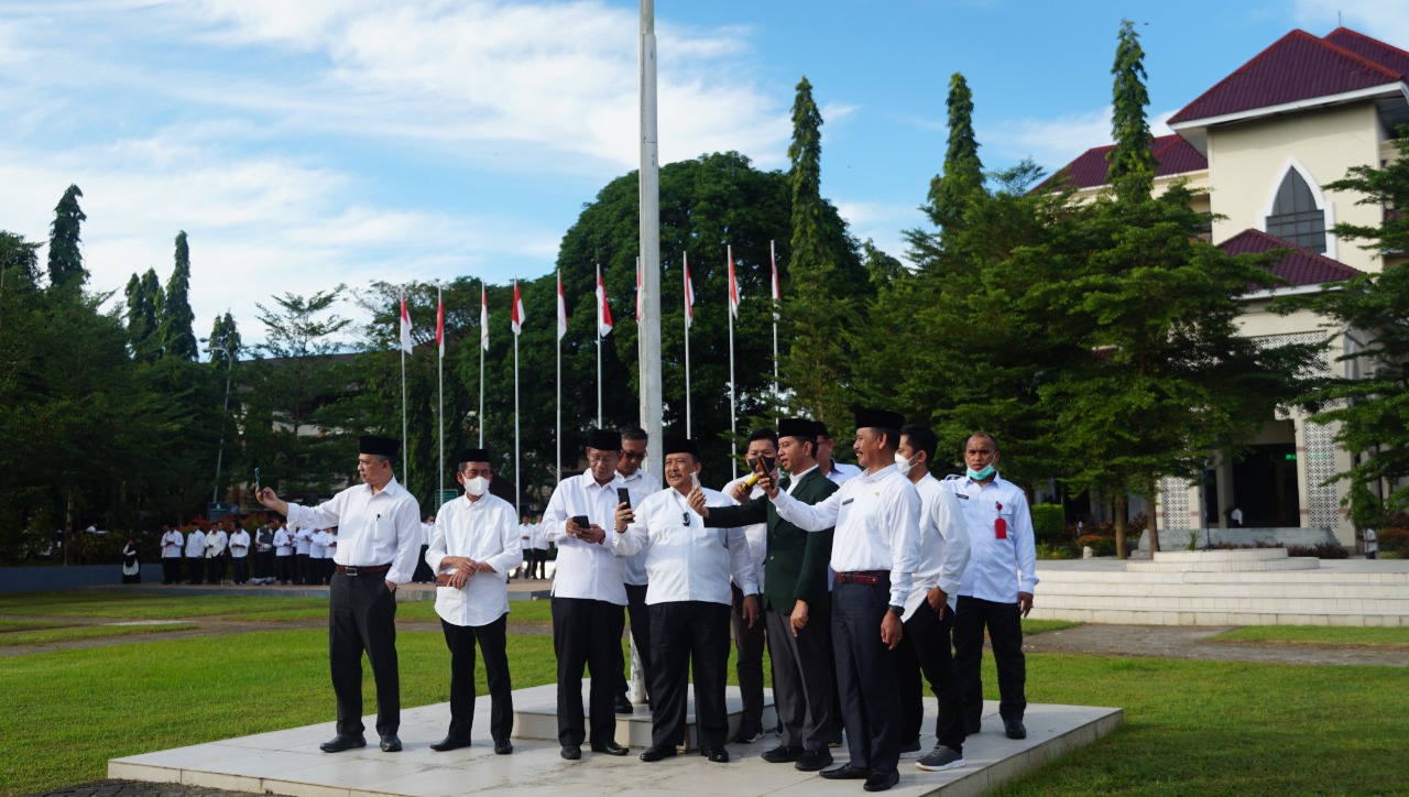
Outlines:
[[396, 660], [396, 587], [411, 580], [420, 549], [420, 506], [392, 473], [400, 441], [358, 439], [358, 476], [317, 507], [279, 500], [269, 487], [259, 503], [304, 528], [335, 525], [341, 531], [337, 573], [328, 590], [328, 669], [337, 696], [337, 736], [320, 745], [335, 753], [366, 746], [362, 735], [362, 653], [376, 679], [376, 732], [383, 752], [399, 752], [402, 739], [400, 673]]

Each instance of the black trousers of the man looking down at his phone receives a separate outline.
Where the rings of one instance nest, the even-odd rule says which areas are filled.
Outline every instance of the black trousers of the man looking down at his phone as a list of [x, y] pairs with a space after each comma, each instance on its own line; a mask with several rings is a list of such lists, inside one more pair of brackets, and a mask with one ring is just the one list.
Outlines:
[[[604, 600], [552, 598], [552, 651], [558, 656], [558, 743], [583, 739], [604, 745], [616, 741], [617, 679], [621, 677], [621, 607]], [[582, 669], [592, 673], [588, 711], [592, 735], [582, 715]]]

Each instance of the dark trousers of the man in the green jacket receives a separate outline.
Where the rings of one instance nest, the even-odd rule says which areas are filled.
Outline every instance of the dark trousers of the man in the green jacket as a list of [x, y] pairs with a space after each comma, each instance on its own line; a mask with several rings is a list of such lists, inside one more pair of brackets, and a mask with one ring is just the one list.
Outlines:
[[764, 613], [768, 653], [774, 662], [774, 705], [783, 728], [783, 743], [824, 751], [831, 741], [833, 693], [831, 617], [809, 613], [807, 625], [792, 635], [792, 615]]

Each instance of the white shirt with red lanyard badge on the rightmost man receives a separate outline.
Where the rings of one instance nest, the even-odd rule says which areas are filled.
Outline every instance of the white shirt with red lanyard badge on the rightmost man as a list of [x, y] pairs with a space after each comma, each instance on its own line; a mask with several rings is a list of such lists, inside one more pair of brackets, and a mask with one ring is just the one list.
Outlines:
[[[988, 484], [951, 476], [943, 486], [958, 497], [972, 549], [960, 594], [1017, 603], [1017, 593], [1031, 593], [1037, 587], [1037, 545], [1023, 489], [1000, 476], [993, 476]], [[1002, 538], [998, 536], [999, 518], [1005, 527]]]

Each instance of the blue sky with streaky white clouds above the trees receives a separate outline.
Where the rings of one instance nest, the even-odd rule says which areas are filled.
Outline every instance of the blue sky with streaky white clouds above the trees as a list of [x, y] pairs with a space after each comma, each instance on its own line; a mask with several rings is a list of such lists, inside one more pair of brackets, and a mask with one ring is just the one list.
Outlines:
[[[547, 273], [583, 203], [637, 165], [637, 11], [0, 0], [0, 230], [45, 239], [77, 183], [90, 284], [118, 294], [132, 272], [165, 280], [185, 230], [197, 335], [228, 308], [254, 341], [255, 303], [276, 293]], [[1332, 31], [1337, 11], [1409, 49], [1409, 7], [1372, 0], [661, 0], [661, 159], [735, 149], [785, 168], [806, 75], [823, 193], [854, 235], [900, 256], [943, 158], [951, 73], [974, 90], [986, 166], [1055, 169], [1109, 141], [1123, 17], [1138, 23], [1161, 132], [1292, 28]]]

